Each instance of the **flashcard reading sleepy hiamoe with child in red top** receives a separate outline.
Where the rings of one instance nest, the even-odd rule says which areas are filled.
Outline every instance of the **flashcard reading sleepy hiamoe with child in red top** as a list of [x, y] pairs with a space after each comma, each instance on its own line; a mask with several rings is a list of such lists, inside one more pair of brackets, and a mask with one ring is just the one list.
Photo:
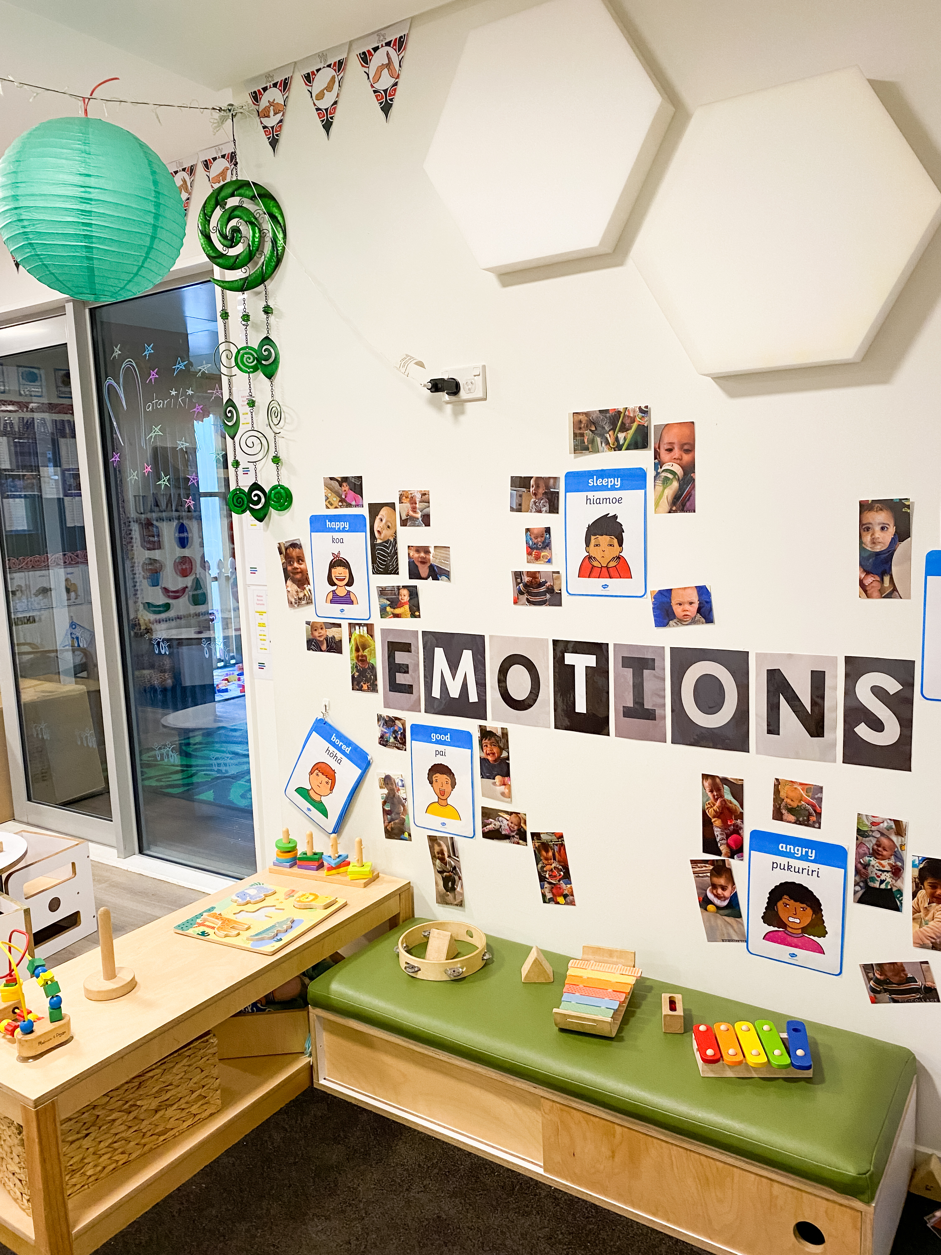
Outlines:
[[570, 596], [645, 597], [646, 469], [605, 467], [566, 472], [565, 546]]

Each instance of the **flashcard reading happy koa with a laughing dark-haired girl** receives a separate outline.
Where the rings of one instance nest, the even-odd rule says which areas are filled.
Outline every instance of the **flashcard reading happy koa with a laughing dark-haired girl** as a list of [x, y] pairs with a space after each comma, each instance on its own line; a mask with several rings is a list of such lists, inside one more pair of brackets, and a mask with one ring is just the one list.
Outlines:
[[366, 622], [369, 547], [364, 515], [350, 511], [310, 516], [314, 610], [321, 619]]

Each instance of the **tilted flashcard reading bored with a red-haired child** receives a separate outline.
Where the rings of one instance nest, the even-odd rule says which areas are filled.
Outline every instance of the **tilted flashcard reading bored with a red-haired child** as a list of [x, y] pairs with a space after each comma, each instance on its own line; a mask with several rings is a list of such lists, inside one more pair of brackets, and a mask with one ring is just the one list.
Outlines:
[[285, 797], [324, 832], [339, 832], [371, 762], [361, 745], [326, 719], [316, 719], [294, 764]]

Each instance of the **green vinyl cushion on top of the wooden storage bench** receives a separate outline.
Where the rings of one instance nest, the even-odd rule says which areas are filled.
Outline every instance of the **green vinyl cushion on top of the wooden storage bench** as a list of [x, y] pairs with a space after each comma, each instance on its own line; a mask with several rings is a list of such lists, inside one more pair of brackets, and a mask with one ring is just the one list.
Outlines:
[[[488, 937], [493, 961], [465, 980], [415, 980], [393, 953], [409, 920], [310, 985], [311, 1007], [483, 1064], [620, 1116], [789, 1172], [872, 1202], [915, 1079], [900, 1045], [807, 1022], [814, 1074], [805, 1081], [700, 1077], [691, 1019], [770, 1018], [784, 1032], [793, 1010], [641, 978], [615, 1038], [552, 1023], [568, 959], [543, 951], [552, 985], [524, 985], [528, 945]], [[640, 956], [642, 960], [642, 955]], [[642, 963], [641, 963], [642, 965]], [[684, 1034], [664, 1033], [664, 993], [681, 994]]]

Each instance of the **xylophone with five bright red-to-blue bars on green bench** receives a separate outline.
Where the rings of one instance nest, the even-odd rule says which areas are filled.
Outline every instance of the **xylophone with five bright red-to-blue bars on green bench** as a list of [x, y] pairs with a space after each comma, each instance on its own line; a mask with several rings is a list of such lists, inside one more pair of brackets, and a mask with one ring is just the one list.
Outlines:
[[812, 1077], [811, 1042], [803, 1020], [788, 1020], [787, 1037], [769, 1019], [693, 1025], [693, 1053], [703, 1077]]

